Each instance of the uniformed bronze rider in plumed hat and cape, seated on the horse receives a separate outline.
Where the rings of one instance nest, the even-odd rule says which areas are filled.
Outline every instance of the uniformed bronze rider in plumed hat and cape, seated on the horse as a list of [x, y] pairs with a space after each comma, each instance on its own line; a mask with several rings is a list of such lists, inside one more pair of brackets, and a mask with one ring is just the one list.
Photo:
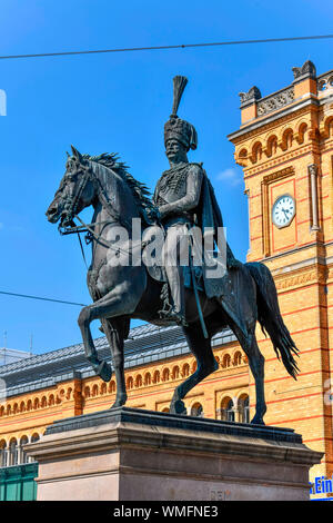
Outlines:
[[[205, 227], [222, 227], [222, 216], [213, 188], [201, 164], [190, 164], [188, 151], [196, 149], [198, 136], [194, 127], [176, 116], [181, 96], [188, 80], [173, 79], [173, 108], [164, 126], [165, 154], [170, 169], [165, 170], [157, 184], [154, 204], [159, 208], [167, 237], [163, 262], [172, 296], [169, 319], [186, 325], [184, 303], [184, 275], [180, 259], [189, 244], [183, 241], [189, 228], [198, 225], [204, 233]], [[229, 246], [226, 267], [236, 266]]]

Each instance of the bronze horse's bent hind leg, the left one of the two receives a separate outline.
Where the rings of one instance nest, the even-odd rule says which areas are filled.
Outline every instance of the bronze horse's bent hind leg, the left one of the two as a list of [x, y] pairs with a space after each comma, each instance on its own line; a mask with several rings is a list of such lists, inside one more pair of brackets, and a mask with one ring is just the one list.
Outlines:
[[183, 327], [183, 332], [189, 347], [195, 356], [196, 371], [175, 388], [170, 404], [170, 413], [172, 414], [185, 414], [186, 408], [182, 399], [195, 385], [219, 367], [212, 352], [211, 338], [204, 337], [201, 324], [198, 322], [189, 327]]

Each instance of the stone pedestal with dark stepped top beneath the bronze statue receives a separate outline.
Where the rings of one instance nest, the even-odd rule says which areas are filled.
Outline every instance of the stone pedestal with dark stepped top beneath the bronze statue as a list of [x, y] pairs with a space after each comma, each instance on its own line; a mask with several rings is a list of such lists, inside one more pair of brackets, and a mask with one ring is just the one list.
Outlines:
[[292, 430], [118, 408], [53, 423], [26, 445], [38, 500], [309, 500], [322, 454]]

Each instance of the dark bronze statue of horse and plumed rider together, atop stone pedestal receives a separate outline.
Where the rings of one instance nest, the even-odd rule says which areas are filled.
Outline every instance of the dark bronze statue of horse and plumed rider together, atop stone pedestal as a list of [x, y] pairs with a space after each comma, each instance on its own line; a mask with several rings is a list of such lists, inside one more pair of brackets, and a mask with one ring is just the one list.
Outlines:
[[[94, 319], [102, 324], [117, 379], [112, 407], [127, 402], [123, 347], [131, 318], [157, 325], [175, 322], [184, 332], [196, 358], [196, 371], [174, 391], [170, 412], [175, 414], [186, 412], [184, 396], [216, 371], [211, 338], [230, 327], [249, 358], [255, 379], [256, 404], [251, 423], [264, 424], [264, 357], [255, 339], [256, 322], [270, 335], [279, 359], [294, 378], [299, 369], [293, 354], [297, 354], [297, 348], [283, 323], [275, 284], [265, 265], [240, 263], [228, 244], [224, 270], [218, 277], [208, 276], [211, 274], [206, 270], [208, 262], [202, 267], [193, 263], [198, 250], [195, 231], [200, 230], [202, 237], [205, 233], [211, 236], [215, 251], [209, 259], [214, 265], [222, 246], [218, 233], [223, 221], [202, 165], [188, 160], [188, 152], [196, 147], [198, 138], [194, 127], [176, 115], [185, 83], [184, 77], [174, 78], [172, 115], [164, 126], [170, 169], [158, 181], [153, 200], [145, 186], [129, 174], [114, 154], [81, 155], [72, 147], [47, 217], [53, 224], [59, 221], [62, 234], [87, 231], [91, 241], [87, 280], [93, 303], [83, 307], [78, 322], [88, 361], [109, 382], [111, 365], [99, 359], [90, 330]], [[93, 217], [85, 224], [79, 215], [90, 206]], [[138, 224], [142, 228], [139, 239]], [[163, 243], [155, 250], [161, 251], [161, 258], [144, 263], [159, 235]], [[189, 265], [181, 264], [181, 257], [186, 254]], [[203, 249], [202, 258], [205, 255]]]

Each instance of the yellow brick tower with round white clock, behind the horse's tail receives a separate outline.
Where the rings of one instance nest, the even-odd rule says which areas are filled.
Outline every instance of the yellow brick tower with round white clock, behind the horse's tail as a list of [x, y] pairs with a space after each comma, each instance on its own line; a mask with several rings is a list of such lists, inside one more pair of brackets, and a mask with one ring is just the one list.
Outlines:
[[[291, 85], [241, 92], [241, 127], [229, 136], [249, 199], [248, 262], [263, 262], [300, 349], [295, 382], [258, 332], [270, 425], [289, 426], [324, 452], [312, 476], [331, 477], [333, 379], [333, 70], [306, 61]], [[253, 379], [251, 403], [254, 403]]]

